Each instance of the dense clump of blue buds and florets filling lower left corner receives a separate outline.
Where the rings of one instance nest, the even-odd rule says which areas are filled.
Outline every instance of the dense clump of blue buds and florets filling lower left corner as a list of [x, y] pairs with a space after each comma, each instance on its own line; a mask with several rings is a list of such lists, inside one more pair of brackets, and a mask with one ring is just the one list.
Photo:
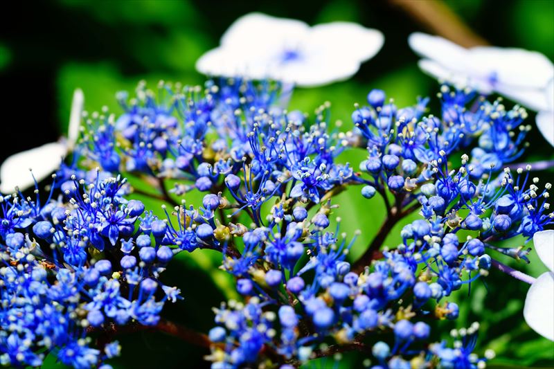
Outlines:
[[174, 254], [159, 237], [166, 223], [140, 217], [144, 205], [124, 198], [124, 179], [97, 170], [84, 177], [64, 181], [62, 195], [44, 204], [38, 195], [0, 198], [5, 365], [41, 366], [53, 352], [75, 368], [97, 366], [119, 346], [93, 348], [87, 332], [111, 323], [156, 325], [166, 300], [179, 298], [158, 280]]

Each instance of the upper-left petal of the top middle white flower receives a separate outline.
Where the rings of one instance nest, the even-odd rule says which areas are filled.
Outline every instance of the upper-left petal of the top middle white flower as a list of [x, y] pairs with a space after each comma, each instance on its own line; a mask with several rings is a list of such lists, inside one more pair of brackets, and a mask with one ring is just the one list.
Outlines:
[[253, 12], [234, 21], [222, 36], [221, 44], [241, 51], [294, 47], [309, 29], [303, 21]]

